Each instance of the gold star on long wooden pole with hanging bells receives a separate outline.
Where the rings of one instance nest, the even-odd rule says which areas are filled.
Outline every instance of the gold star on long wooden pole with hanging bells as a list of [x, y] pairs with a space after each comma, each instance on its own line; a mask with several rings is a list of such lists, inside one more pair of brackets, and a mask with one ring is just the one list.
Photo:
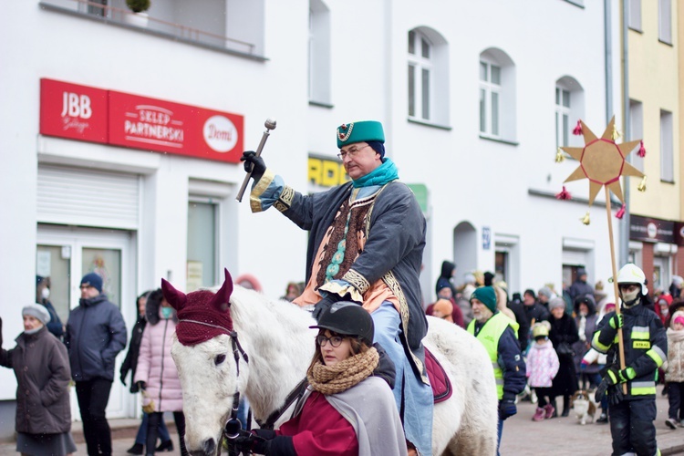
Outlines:
[[[568, 181], [577, 181], [580, 179], [589, 180], [589, 206], [594, 203], [596, 195], [601, 191], [601, 187], [606, 190], [606, 213], [608, 216], [608, 241], [610, 244], [610, 260], [613, 268], [613, 289], [616, 299], [619, 298], [619, 290], [617, 288], [617, 267], [615, 259], [615, 245], [613, 243], [613, 222], [610, 211], [610, 192], [613, 192], [617, 198], [624, 204], [625, 198], [622, 194], [622, 187], [620, 186], [620, 176], [637, 176], [641, 177], [642, 181], [638, 186], [638, 190], [644, 192], [646, 190], [646, 176], [643, 172], [638, 171], [626, 161], [627, 155], [635, 150], [641, 143], [641, 140], [634, 140], [617, 144], [615, 140], [619, 134], [615, 128], [615, 116], [610, 119], [606, 131], [604, 131], [601, 138], [596, 138], [596, 135], [589, 130], [582, 120], [577, 121], [576, 134], [584, 135], [585, 147], [562, 147], [571, 157], [579, 161], [579, 166], [573, 171], [570, 176], [565, 179]], [[562, 154], [558, 150], [559, 156]], [[562, 156], [556, 156], [556, 161], [563, 161]], [[565, 193], [565, 194], [564, 194]], [[556, 195], [556, 198], [567, 199], [567, 193], [564, 191]], [[582, 219], [583, 223], [589, 224], [589, 212], [586, 212]], [[618, 304], [618, 303], [616, 303]], [[620, 306], [616, 306], [616, 314], [621, 313]], [[617, 328], [617, 341], [619, 344], [620, 369], [625, 368], [625, 347], [622, 337], [622, 327]], [[627, 384], [622, 385], [622, 390], [627, 394]]]

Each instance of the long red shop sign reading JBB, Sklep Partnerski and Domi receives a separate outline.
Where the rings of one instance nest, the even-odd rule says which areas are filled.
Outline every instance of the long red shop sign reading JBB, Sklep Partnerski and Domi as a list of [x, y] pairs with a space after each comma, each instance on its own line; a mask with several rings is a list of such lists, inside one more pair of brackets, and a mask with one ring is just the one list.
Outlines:
[[115, 90], [40, 80], [40, 134], [237, 163], [244, 117]]

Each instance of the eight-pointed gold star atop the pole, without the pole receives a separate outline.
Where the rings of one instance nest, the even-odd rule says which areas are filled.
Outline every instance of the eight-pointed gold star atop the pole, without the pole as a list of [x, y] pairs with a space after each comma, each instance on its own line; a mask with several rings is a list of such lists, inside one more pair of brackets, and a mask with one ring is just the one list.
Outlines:
[[[575, 160], [579, 166], [565, 182], [589, 180], [589, 205], [596, 199], [596, 195], [605, 185], [621, 202], [625, 202], [620, 186], [620, 176], [637, 176], [645, 178], [644, 173], [627, 163], [627, 155], [641, 144], [641, 140], [634, 140], [617, 144], [614, 140], [615, 117], [610, 119], [601, 138], [589, 130], [585, 122], [580, 120], [582, 134], [585, 137], [585, 147], [561, 148]], [[606, 193], [607, 197], [607, 193]]]

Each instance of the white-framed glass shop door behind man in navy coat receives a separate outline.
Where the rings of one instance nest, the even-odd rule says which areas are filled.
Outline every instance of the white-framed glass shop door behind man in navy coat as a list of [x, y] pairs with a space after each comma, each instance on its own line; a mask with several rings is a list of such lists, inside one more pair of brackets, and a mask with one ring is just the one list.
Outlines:
[[[102, 276], [102, 292], [119, 306], [129, 334], [136, 320], [134, 232], [39, 225], [37, 240], [36, 275], [49, 277], [50, 300], [62, 323], [67, 324], [69, 310], [78, 306], [81, 277], [95, 272]], [[108, 418], [135, 416], [135, 398], [119, 382], [128, 342], [116, 360]], [[75, 389], [71, 389], [71, 415], [80, 420]]]

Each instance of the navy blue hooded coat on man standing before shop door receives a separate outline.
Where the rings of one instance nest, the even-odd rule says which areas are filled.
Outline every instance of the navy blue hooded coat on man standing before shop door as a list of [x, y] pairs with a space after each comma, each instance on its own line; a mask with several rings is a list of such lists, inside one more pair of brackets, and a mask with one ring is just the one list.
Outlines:
[[79, 301], [69, 314], [67, 345], [74, 381], [114, 379], [114, 358], [126, 347], [126, 324], [119, 307], [97, 295]]

